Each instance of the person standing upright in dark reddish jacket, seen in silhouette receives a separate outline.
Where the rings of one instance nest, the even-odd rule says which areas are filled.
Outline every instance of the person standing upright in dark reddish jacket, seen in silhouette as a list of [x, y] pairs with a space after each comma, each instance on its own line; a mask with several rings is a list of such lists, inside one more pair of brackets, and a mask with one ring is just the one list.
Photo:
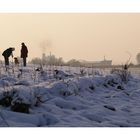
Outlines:
[[28, 49], [24, 43], [21, 43], [21, 58], [23, 58], [23, 66], [26, 67], [26, 58], [28, 57]]

